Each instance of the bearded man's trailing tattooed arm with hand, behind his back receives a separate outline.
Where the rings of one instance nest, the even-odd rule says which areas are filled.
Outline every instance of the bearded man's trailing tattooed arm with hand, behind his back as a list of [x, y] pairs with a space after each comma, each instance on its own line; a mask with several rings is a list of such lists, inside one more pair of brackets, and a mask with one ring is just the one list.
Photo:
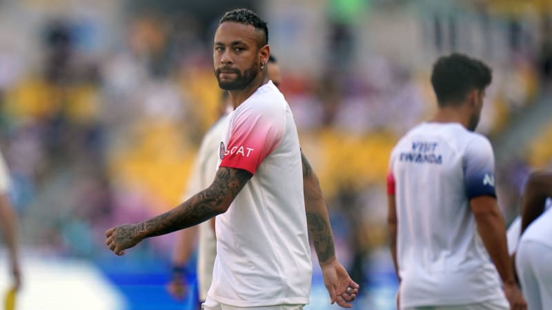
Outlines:
[[313, 240], [318, 262], [322, 268], [324, 285], [328, 289], [332, 304], [337, 302], [341, 307], [351, 308], [352, 304], [349, 302], [355, 300], [359, 285], [351, 280], [346, 269], [335, 257], [330, 218], [318, 177], [303, 153], [301, 153], [301, 160], [308, 234]]

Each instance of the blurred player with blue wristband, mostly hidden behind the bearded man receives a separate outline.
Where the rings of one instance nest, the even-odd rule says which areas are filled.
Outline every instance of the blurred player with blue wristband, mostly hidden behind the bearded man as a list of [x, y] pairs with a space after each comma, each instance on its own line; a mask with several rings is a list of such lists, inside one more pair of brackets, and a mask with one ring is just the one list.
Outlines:
[[[268, 79], [276, 87], [282, 83], [282, 74], [273, 55], [268, 58]], [[224, 117], [232, 110], [228, 92], [221, 97], [219, 120], [205, 134], [197, 153], [196, 162], [188, 178], [188, 188], [184, 200], [208, 187], [217, 173], [220, 138], [224, 132]], [[186, 294], [186, 265], [197, 244], [197, 286], [199, 307], [207, 298], [207, 291], [213, 278], [213, 265], [217, 256], [217, 240], [215, 239], [215, 218], [197, 226], [183, 229], [178, 233], [178, 239], [172, 256], [172, 276], [168, 283], [168, 291], [177, 300]], [[198, 236], [199, 234], [199, 236]]]

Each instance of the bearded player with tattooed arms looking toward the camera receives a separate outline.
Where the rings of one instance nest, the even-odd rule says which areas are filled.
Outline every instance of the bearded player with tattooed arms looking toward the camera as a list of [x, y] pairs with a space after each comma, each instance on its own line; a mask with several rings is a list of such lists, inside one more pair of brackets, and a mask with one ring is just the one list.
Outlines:
[[108, 229], [106, 244], [122, 255], [144, 238], [217, 216], [204, 309], [302, 309], [312, 274], [308, 229], [331, 303], [352, 307], [359, 287], [335, 258], [326, 205], [300, 151], [293, 114], [268, 81], [269, 55], [265, 21], [245, 9], [224, 14], [213, 65], [234, 110], [225, 119], [213, 182], [164, 214]]

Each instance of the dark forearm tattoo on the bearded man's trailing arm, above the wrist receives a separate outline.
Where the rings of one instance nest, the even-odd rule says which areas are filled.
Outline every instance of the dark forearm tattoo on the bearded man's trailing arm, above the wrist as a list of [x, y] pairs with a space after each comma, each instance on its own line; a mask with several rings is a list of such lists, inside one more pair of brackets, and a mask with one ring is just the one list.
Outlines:
[[321, 214], [306, 214], [308, 232], [313, 239], [315, 251], [320, 263], [335, 256], [333, 236], [330, 224]]

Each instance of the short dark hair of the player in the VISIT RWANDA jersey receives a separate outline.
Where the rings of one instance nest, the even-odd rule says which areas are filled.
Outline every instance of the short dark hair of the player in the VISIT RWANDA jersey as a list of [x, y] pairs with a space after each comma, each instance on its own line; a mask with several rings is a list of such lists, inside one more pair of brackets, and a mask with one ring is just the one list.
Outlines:
[[441, 56], [431, 72], [431, 85], [440, 106], [461, 103], [470, 90], [484, 90], [492, 79], [488, 65], [458, 53]]

